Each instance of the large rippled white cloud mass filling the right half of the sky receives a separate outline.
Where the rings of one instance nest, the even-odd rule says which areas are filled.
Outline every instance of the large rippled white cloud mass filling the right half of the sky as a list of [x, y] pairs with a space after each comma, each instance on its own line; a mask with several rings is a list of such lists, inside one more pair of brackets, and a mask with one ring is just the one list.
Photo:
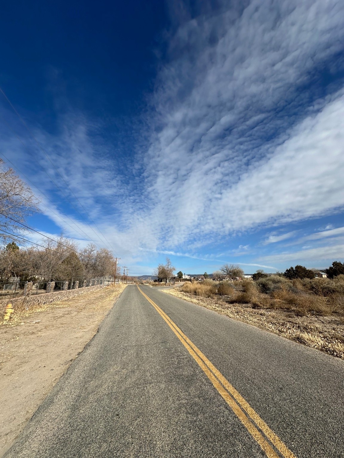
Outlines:
[[[172, 243], [343, 206], [342, 94], [308, 106], [302, 121], [308, 94], [295, 89], [341, 47], [342, 8], [252, 1], [234, 22], [228, 11], [178, 31], [179, 57], [162, 71], [156, 95], [164, 127], [147, 159], [155, 164], [151, 195], [169, 202], [168, 212], [151, 216], [164, 219]], [[272, 132], [279, 135], [266, 143]]]

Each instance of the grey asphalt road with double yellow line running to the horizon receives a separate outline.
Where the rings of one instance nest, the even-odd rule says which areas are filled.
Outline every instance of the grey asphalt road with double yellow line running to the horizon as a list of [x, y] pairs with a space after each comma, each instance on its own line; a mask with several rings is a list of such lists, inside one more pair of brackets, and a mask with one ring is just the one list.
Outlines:
[[6, 458], [344, 457], [342, 360], [141, 291], [124, 290]]

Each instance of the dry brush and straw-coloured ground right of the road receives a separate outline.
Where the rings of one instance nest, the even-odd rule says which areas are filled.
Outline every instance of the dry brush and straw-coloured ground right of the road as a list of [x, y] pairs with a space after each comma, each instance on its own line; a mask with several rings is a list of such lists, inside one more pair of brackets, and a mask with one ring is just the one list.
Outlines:
[[344, 264], [333, 262], [327, 278], [300, 267], [257, 271], [254, 279], [189, 281], [164, 292], [344, 358]]

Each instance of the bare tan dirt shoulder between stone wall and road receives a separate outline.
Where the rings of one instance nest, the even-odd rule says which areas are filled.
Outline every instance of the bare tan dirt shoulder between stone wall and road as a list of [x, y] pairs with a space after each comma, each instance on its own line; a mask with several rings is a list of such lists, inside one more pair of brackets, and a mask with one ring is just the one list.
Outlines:
[[0, 456], [97, 332], [125, 286], [23, 311], [0, 326]]

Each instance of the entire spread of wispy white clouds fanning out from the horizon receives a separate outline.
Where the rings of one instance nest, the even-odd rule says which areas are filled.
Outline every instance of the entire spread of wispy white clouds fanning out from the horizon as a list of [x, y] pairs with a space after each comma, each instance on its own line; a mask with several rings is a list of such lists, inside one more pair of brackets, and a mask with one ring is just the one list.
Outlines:
[[[104, 140], [104, 125], [80, 114], [60, 117], [57, 134], [35, 132], [107, 240], [133, 260], [148, 251], [198, 259], [193, 250], [210, 241], [226, 245], [233, 234], [257, 228], [269, 228], [264, 245], [276, 244], [296, 231], [271, 234], [272, 227], [343, 211], [344, 93], [337, 74], [344, 4], [223, 1], [219, 10], [200, 12], [183, 15], [169, 39], [143, 116], [150, 132], [135, 156], [118, 153]], [[322, 72], [331, 85], [319, 82]], [[59, 213], [64, 197], [15, 138], [4, 141], [55, 202], [44, 202], [46, 214], [77, 236]], [[44, 155], [29, 146], [75, 202]], [[68, 203], [65, 211], [90, 233]], [[332, 237], [319, 234], [307, 240]]]

